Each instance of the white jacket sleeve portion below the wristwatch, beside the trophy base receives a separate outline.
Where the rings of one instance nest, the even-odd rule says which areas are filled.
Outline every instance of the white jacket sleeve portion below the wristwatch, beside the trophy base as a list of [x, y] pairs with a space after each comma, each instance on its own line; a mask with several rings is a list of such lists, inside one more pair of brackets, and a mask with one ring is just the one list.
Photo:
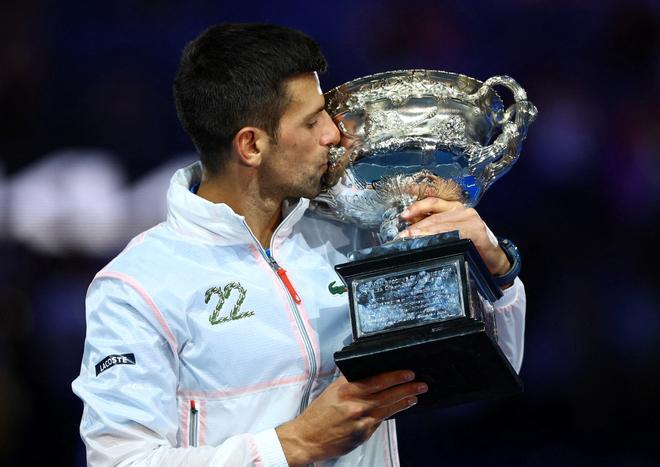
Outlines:
[[497, 326], [497, 343], [506, 355], [511, 366], [520, 373], [525, 338], [525, 287], [516, 278], [513, 285], [504, 291], [502, 298], [497, 300], [495, 321]]

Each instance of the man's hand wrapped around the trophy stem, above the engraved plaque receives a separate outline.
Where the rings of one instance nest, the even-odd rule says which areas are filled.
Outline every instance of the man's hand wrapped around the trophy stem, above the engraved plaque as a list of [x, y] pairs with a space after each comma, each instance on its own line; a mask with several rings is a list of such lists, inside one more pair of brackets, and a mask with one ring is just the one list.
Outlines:
[[401, 218], [412, 225], [399, 237], [432, 235], [458, 230], [461, 238], [469, 238], [477, 247], [490, 273], [506, 274], [511, 268], [508, 258], [497, 243], [497, 238], [477, 211], [459, 201], [446, 201], [429, 197], [413, 203], [403, 211]]

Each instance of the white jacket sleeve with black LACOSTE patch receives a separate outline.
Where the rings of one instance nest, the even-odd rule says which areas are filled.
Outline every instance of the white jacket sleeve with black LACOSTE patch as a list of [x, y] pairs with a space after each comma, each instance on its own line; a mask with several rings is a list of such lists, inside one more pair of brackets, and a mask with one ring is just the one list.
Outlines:
[[[90, 466], [286, 466], [274, 428], [219, 446], [180, 447], [178, 346], [139, 284], [97, 276], [87, 294], [87, 335], [73, 391]], [[185, 344], [185, 343], [184, 343]]]

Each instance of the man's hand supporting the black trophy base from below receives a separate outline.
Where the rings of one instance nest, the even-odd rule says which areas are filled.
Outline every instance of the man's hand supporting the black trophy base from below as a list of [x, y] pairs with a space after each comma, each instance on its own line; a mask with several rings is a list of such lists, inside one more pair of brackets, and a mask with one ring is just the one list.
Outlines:
[[289, 465], [331, 459], [364, 443], [380, 423], [417, 403], [426, 384], [411, 371], [393, 371], [361, 381], [340, 376], [277, 436]]

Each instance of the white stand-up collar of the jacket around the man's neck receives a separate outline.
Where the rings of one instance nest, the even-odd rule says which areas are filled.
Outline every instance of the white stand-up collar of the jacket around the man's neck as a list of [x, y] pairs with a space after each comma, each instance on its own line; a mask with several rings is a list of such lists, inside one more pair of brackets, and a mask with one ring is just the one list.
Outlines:
[[[199, 161], [174, 173], [167, 192], [167, 223], [176, 231], [216, 244], [257, 243], [245, 217], [224, 203], [212, 203], [190, 191], [190, 187], [201, 180]], [[308, 206], [306, 198], [285, 202], [282, 207], [284, 220], [275, 230], [274, 237], [288, 236]]]

